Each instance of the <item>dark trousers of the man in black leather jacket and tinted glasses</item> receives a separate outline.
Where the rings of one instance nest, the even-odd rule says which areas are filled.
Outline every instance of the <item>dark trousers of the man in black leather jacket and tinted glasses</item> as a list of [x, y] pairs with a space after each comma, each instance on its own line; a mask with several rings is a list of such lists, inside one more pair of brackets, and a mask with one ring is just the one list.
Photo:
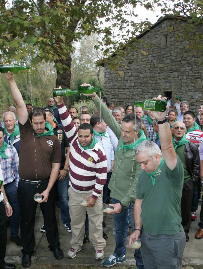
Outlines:
[[183, 184], [181, 197], [181, 217], [185, 235], [188, 235], [191, 223], [191, 207], [193, 201], [193, 183], [188, 181]]

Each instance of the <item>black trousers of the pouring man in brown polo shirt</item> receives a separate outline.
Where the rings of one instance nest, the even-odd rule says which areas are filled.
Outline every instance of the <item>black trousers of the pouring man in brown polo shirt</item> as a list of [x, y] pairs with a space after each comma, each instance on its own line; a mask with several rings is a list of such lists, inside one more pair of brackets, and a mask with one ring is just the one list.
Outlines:
[[[32, 255], [34, 252], [34, 224], [37, 202], [34, 201], [35, 193], [42, 193], [48, 185], [48, 181], [40, 186], [28, 184], [19, 181], [18, 184], [18, 202], [20, 208], [20, 235], [22, 242], [22, 253]], [[41, 203], [44, 224], [46, 226], [46, 237], [49, 242], [49, 248], [59, 247], [58, 227], [55, 216], [55, 189], [49, 192], [49, 198], [46, 203]]]

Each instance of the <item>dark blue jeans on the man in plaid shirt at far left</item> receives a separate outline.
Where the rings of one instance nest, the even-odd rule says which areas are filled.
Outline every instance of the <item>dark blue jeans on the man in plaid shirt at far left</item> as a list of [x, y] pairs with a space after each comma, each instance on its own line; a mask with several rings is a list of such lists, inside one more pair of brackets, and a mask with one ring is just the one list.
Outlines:
[[19, 204], [17, 197], [17, 187], [15, 185], [15, 181], [11, 184], [5, 184], [4, 189], [6, 192], [6, 196], [8, 201], [13, 209], [13, 214], [10, 217], [10, 235], [12, 237], [18, 236], [19, 234], [19, 224], [20, 224], [20, 213], [19, 213]]

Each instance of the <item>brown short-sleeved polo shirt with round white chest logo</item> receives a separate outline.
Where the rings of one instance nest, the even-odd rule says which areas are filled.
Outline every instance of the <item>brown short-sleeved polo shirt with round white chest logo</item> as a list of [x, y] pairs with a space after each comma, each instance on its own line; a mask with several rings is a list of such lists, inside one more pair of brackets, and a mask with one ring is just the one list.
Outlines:
[[32, 129], [29, 121], [20, 129], [19, 177], [38, 181], [49, 178], [52, 163], [61, 163], [61, 146], [55, 135], [40, 136]]

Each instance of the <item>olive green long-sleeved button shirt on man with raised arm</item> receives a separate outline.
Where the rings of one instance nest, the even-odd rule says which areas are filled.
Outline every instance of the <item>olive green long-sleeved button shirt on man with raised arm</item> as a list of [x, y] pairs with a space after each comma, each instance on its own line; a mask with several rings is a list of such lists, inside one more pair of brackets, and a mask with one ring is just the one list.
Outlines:
[[[115, 120], [109, 108], [97, 97], [94, 100], [95, 106], [105, 123], [115, 133], [118, 138], [118, 147], [122, 145], [121, 125]], [[125, 206], [129, 206], [131, 201], [136, 199], [137, 180], [141, 166], [136, 161], [134, 150], [124, 148], [115, 152], [114, 169], [109, 182], [111, 197], [121, 201]]]

